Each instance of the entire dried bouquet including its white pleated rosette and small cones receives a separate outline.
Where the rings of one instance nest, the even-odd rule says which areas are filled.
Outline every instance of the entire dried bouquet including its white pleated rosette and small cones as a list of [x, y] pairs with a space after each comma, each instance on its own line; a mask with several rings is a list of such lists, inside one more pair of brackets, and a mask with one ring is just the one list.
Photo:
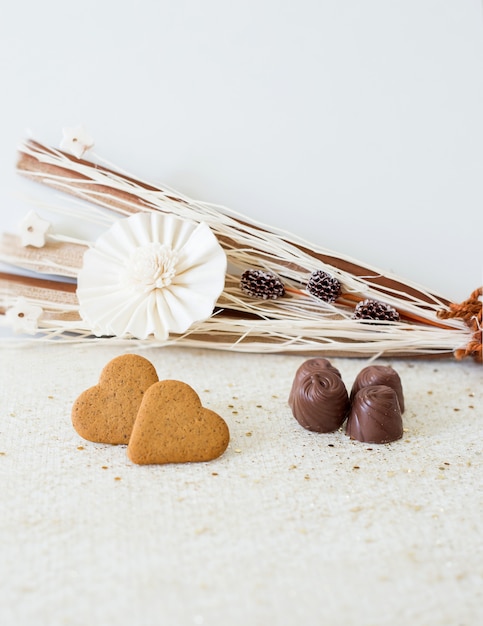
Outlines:
[[[3, 235], [0, 260], [30, 271], [28, 277], [0, 274], [1, 319], [17, 332], [37, 340], [481, 362], [481, 287], [467, 301], [451, 303], [224, 207], [85, 160], [83, 153], [36, 141], [20, 148], [21, 174], [88, 201], [87, 212], [64, 210], [74, 222], [96, 221], [106, 232], [97, 241], [78, 240], [30, 214], [20, 234]], [[156, 216], [141, 221], [157, 220], [157, 227], [146, 227], [147, 233], [135, 226], [140, 214]], [[197, 234], [190, 244], [188, 231], [199, 225], [207, 239]], [[186, 236], [178, 237], [177, 229]]]

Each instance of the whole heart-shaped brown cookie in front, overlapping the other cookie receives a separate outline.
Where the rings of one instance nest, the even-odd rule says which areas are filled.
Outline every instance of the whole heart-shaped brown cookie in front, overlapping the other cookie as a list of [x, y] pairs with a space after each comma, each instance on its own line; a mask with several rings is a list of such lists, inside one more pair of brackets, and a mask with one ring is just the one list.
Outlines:
[[139, 465], [211, 461], [229, 441], [226, 422], [203, 408], [194, 389], [163, 380], [144, 394], [127, 454]]

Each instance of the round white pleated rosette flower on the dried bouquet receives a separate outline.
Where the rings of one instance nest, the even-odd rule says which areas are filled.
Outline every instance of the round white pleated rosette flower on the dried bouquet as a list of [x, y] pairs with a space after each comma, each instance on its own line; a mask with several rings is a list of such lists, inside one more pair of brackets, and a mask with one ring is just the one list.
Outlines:
[[226, 265], [207, 224], [137, 213], [115, 222], [85, 252], [80, 315], [96, 336], [166, 340], [212, 314]]

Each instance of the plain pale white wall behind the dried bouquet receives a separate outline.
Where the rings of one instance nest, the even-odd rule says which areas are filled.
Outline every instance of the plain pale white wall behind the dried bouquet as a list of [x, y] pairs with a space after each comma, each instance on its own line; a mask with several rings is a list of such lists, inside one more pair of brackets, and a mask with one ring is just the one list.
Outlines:
[[19, 0], [0, 17], [0, 227], [31, 132], [461, 300], [482, 281], [479, 0]]

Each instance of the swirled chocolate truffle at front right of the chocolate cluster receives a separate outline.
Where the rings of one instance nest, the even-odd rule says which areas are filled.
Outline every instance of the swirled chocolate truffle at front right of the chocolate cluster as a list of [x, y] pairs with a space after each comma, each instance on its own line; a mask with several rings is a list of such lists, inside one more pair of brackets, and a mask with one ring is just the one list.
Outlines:
[[403, 435], [397, 394], [387, 385], [362, 387], [354, 399], [346, 433], [365, 443], [390, 443]]

